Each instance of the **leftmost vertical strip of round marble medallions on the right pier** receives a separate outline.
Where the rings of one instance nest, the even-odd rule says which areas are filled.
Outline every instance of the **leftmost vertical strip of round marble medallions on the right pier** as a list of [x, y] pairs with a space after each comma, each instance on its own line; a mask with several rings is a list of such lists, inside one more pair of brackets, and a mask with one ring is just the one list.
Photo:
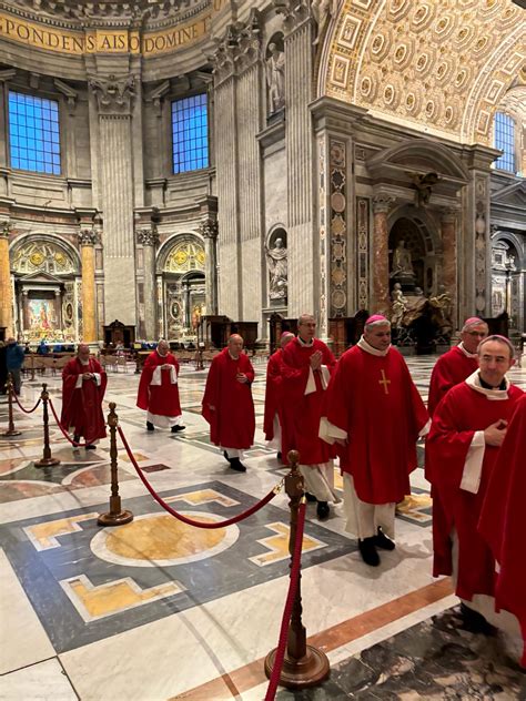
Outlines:
[[330, 141], [331, 317], [347, 315], [347, 175], [346, 145]]

